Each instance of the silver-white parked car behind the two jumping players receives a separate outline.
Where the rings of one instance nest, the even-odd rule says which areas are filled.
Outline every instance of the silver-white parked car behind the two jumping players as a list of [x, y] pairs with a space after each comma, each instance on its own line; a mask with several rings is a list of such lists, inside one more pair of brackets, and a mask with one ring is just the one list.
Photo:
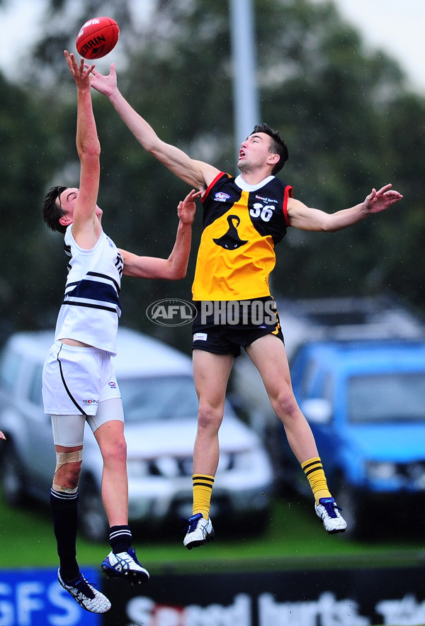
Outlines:
[[[41, 376], [53, 332], [12, 335], [0, 358], [1, 485], [4, 499], [49, 501], [55, 470], [50, 416], [42, 408]], [[118, 331], [115, 372], [123, 396], [128, 443], [130, 523], [161, 525], [192, 514], [192, 452], [198, 401], [191, 359], [140, 332]], [[237, 513], [264, 527], [271, 496], [271, 462], [259, 437], [227, 403], [220, 429], [220, 464], [212, 519]], [[79, 515], [86, 536], [101, 540], [108, 525], [101, 504], [101, 454], [84, 435]]]

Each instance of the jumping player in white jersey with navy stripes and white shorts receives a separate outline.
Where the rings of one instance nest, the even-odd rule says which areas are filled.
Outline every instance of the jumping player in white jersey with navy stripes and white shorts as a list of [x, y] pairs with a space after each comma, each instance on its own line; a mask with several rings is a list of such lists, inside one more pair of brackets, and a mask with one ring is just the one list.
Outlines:
[[65, 235], [69, 273], [55, 330], [55, 342], [43, 368], [43, 402], [52, 416], [57, 465], [50, 503], [60, 557], [58, 580], [92, 613], [111, 603], [84, 578], [77, 562], [78, 483], [87, 421], [103, 457], [102, 499], [110, 525], [111, 552], [102, 563], [106, 576], [133, 584], [149, 579], [132, 549], [128, 525], [128, 477], [123, 405], [111, 356], [120, 316], [122, 274], [141, 278], [181, 279], [191, 248], [191, 225], [199, 192], [192, 190], [178, 206], [179, 226], [167, 259], [140, 257], [120, 250], [103, 232], [97, 206], [100, 143], [91, 103], [90, 72], [65, 51], [77, 84], [77, 151], [79, 188], [52, 187], [45, 196], [43, 218]]

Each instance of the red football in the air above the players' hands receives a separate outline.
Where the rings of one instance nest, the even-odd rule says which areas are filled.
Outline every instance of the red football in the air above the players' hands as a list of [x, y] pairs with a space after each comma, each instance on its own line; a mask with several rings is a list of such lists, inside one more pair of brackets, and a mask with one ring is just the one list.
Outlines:
[[117, 44], [120, 28], [112, 18], [93, 18], [81, 26], [75, 47], [84, 59], [100, 59]]

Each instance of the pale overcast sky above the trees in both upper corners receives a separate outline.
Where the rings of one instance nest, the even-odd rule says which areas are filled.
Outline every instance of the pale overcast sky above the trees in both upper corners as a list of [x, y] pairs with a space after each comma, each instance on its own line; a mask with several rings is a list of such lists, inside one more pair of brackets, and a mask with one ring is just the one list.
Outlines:
[[[425, 95], [425, 0], [335, 2], [341, 15], [360, 30], [365, 43], [373, 48], [382, 47], [394, 57], [407, 73], [410, 86]], [[46, 0], [5, 0], [0, 10], [0, 63], [4, 73], [18, 71], [18, 52], [33, 40], [34, 25], [45, 4]], [[147, 4], [150, 1], [134, 1], [135, 7]], [[104, 62], [110, 62], [109, 57]]]

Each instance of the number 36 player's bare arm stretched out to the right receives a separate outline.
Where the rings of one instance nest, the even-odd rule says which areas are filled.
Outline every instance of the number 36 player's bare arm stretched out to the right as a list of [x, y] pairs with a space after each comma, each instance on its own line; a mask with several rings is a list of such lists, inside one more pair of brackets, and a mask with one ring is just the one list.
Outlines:
[[351, 208], [344, 208], [341, 211], [336, 211], [336, 213], [325, 213], [317, 208], [310, 208], [299, 200], [290, 198], [288, 200], [288, 217], [290, 225], [300, 228], [300, 230], [335, 232], [361, 222], [371, 213], [385, 211], [402, 197], [402, 194], [391, 189], [391, 185], [388, 184], [379, 191], [373, 189], [360, 204]]

